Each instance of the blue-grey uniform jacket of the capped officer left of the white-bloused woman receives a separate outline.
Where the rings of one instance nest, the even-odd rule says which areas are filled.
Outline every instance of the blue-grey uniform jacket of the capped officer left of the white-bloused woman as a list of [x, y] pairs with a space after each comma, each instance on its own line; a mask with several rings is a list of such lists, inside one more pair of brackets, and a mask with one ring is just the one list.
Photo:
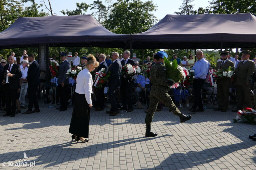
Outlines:
[[69, 78], [67, 76], [67, 70], [70, 68], [70, 63], [68, 60], [65, 60], [59, 65], [59, 74], [58, 74], [58, 84], [64, 82], [65, 84], [69, 84]]

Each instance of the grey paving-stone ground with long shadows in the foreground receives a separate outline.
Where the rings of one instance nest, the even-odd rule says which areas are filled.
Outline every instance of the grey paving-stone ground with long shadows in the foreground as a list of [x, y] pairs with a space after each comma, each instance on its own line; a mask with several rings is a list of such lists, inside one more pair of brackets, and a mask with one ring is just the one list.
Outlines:
[[[164, 108], [152, 123], [158, 136], [148, 138], [145, 106], [117, 116], [91, 109], [89, 142], [76, 143], [68, 132], [73, 108], [59, 112], [40, 103], [40, 110], [15, 117], [0, 112], [1, 169], [256, 169], [256, 142], [248, 138], [256, 126], [233, 123], [231, 111], [206, 109], [180, 123]], [[35, 166], [8, 166], [24, 152], [30, 157], [21, 162]]]

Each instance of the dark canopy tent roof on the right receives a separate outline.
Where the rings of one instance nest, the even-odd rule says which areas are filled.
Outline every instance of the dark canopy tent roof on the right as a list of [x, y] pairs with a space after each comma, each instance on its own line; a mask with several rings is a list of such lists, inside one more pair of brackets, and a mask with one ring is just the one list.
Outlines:
[[133, 49], [256, 47], [256, 18], [250, 14], [166, 15], [149, 30], [132, 34]]

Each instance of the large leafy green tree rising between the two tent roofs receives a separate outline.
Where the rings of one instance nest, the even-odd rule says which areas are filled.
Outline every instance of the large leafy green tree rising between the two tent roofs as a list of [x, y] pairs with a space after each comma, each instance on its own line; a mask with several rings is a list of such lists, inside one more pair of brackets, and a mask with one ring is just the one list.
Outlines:
[[152, 14], [156, 11], [153, 1], [118, 0], [109, 6], [111, 11], [103, 26], [117, 34], [140, 33], [151, 28], [157, 18]]

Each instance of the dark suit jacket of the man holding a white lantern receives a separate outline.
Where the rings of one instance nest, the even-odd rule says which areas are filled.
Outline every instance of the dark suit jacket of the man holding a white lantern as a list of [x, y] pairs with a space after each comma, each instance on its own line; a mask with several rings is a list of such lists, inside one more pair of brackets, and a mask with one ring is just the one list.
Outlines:
[[[4, 66], [5, 70], [8, 70], [9, 64]], [[9, 88], [10, 89], [18, 89], [19, 87], [19, 78], [22, 76], [20, 67], [17, 64], [13, 64], [12, 69], [10, 70], [11, 74], [14, 74], [13, 77], [9, 77]]]

